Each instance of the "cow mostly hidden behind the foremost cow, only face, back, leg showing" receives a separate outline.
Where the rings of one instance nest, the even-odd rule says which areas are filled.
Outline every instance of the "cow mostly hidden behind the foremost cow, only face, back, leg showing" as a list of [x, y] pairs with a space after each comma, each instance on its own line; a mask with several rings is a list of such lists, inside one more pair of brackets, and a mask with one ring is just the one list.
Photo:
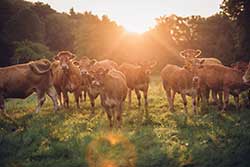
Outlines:
[[95, 59], [90, 60], [87, 57], [84, 57], [79, 61], [79, 68], [81, 71], [81, 75], [84, 78], [84, 83], [87, 89], [88, 97], [91, 103], [91, 111], [92, 114], [95, 112], [95, 99], [99, 96], [100, 92], [98, 89], [91, 84], [93, 80], [93, 74], [96, 73], [99, 69], [111, 70], [117, 69], [118, 65], [116, 62], [105, 59], [101, 61], [97, 61]]

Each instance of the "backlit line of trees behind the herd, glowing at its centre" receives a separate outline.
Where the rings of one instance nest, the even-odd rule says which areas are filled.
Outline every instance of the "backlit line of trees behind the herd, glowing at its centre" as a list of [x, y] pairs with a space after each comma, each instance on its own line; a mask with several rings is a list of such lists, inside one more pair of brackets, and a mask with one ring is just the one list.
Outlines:
[[51, 59], [60, 50], [118, 63], [157, 60], [158, 68], [181, 64], [178, 53], [186, 48], [199, 48], [203, 57], [224, 64], [250, 59], [248, 0], [224, 0], [221, 12], [208, 18], [161, 16], [142, 35], [126, 32], [105, 15], [59, 13], [41, 2], [1, 0], [0, 12], [1, 66]]

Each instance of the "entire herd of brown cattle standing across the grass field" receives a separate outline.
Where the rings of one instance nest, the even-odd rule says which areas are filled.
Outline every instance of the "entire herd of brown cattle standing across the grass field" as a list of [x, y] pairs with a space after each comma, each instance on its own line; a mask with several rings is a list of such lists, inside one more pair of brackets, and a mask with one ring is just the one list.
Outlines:
[[[193, 112], [197, 112], [197, 101], [208, 103], [210, 91], [213, 103], [223, 111], [227, 109], [229, 94], [233, 95], [238, 109], [239, 94], [250, 88], [250, 64], [237, 62], [227, 67], [216, 58], [198, 58], [200, 54], [200, 50], [186, 49], [180, 52], [185, 60], [183, 67], [168, 64], [162, 69], [170, 110], [174, 110], [175, 94], [179, 93], [184, 110], [187, 112], [186, 96], [191, 96]], [[61, 107], [68, 108], [70, 92], [78, 108], [79, 102], [88, 95], [94, 114], [95, 99], [100, 96], [110, 126], [117, 121], [120, 127], [123, 103], [128, 94], [131, 104], [132, 90], [135, 90], [138, 105], [141, 105], [142, 91], [144, 105], [148, 106], [149, 75], [155, 65], [156, 62], [144, 62], [119, 66], [111, 60], [96, 61], [88, 57], [76, 60], [71, 52], [61, 51], [53, 62], [41, 59], [0, 68], [0, 110], [5, 109], [4, 99], [26, 98], [33, 92], [38, 98], [36, 112], [40, 111], [45, 94], [52, 99], [54, 111], [58, 110], [58, 101]]]

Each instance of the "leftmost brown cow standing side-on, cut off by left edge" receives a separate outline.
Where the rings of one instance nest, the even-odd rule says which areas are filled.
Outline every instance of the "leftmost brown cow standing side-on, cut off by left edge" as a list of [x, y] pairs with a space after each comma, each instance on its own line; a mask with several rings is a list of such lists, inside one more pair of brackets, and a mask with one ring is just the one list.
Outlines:
[[53, 87], [51, 62], [46, 59], [32, 61], [26, 64], [0, 68], [0, 110], [4, 110], [4, 99], [26, 98], [36, 92], [39, 112], [44, 101], [45, 93], [58, 109], [57, 94]]

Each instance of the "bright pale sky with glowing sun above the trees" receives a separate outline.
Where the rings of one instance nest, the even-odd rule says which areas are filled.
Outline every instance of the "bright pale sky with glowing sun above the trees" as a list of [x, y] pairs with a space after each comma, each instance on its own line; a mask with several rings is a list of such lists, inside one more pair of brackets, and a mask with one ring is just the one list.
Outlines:
[[[36, 2], [37, 0], [28, 0]], [[219, 12], [222, 0], [39, 0], [59, 12], [92, 11], [107, 15], [127, 31], [142, 33], [155, 25], [155, 18], [164, 15], [211, 16]]]

